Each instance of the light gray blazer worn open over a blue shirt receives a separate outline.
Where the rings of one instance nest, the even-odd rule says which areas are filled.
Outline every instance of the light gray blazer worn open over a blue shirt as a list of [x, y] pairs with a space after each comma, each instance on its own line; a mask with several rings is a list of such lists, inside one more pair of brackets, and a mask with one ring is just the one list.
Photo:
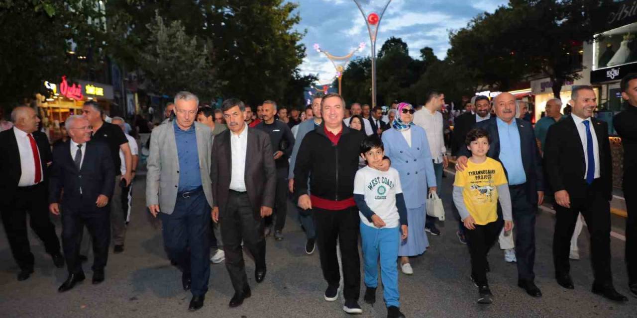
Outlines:
[[[212, 207], [212, 182], [210, 181], [210, 153], [213, 135], [206, 125], [194, 123], [197, 135], [197, 153], [201, 183], [208, 204]], [[179, 184], [179, 158], [175, 142], [173, 122], [155, 127], [150, 135], [150, 155], [147, 159], [146, 205], [159, 204], [159, 210], [172, 214]]]

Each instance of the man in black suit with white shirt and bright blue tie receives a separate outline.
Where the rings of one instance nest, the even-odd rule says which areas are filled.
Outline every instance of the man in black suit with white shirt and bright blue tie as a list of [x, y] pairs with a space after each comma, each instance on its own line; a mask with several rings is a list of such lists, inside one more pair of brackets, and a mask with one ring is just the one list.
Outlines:
[[610, 270], [610, 200], [613, 177], [608, 125], [592, 118], [597, 98], [591, 86], [576, 86], [571, 93], [571, 116], [548, 128], [544, 148], [547, 178], [555, 190], [553, 262], [560, 286], [573, 289], [569, 275], [571, 236], [578, 214], [590, 233], [593, 293], [627, 301], [613, 287]]

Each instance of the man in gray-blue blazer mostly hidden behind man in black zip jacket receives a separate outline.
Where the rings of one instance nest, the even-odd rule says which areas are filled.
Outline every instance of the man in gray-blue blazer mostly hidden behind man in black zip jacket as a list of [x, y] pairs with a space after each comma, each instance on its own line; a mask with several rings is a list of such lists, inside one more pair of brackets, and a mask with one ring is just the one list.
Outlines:
[[[314, 95], [314, 98], [312, 99], [312, 113], [314, 114], [313, 120], [306, 120], [298, 125], [299, 130], [296, 132], [296, 142], [294, 142], [294, 148], [292, 148], [292, 156], [290, 156], [290, 170], [288, 174], [288, 188], [291, 193], [294, 193], [294, 165], [296, 163], [296, 156], [299, 154], [299, 148], [301, 148], [301, 141], [303, 141], [305, 134], [311, 132], [323, 122], [323, 117], [320, 112], [320, 100], [322, 97], [322, 94], [317, 94]], [[296, 202], [296, 200], [294, 200], [294, 202]], [[307, 238], [305, 242], [305, 252], [306, 254], [312, 254], [316, 247], [317, 236], [314, 221], [312, 219], [312, 211], [311, 209], [303, 210], [300, 207], [296, 208], [299, 209], [299, 222], [301, 222], [301, 226], [303, 226], [303, 230], [305, 231], [305, 237]]]

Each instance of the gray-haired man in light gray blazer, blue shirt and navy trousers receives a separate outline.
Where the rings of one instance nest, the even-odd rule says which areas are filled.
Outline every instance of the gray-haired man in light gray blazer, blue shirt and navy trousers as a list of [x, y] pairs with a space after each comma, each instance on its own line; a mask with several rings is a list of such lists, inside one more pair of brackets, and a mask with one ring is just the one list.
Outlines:
[[162, 221], [164, 245], [171, 261], [183, 270], [184, 290], [192, 293], [188, 310], [203, 306], [210, 278], [210, 181], [212, 132], [196, 122], [199, 99], [175, 96], [176, 120], [150, 135], [146, 204]]

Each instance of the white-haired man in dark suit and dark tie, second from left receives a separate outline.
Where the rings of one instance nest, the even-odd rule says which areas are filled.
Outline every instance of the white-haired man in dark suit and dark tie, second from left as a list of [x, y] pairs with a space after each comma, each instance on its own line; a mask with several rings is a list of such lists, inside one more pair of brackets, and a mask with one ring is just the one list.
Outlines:
[[102, 142], [91, 141], [89, 121], [82, 116], [69, 116], [66, 127], [71, 140], [53, 149], [48, 196], [49, 211], [58, 215], [62, 210], [62, 246], [69, 277], [57, 289], [59, 292], [68, 291], [85, 278], [78, 258], [84, 226], [93, 242], [92, 283], [104, 281], [111, 230], [107, 204], [115, 188], [110, 150]]

